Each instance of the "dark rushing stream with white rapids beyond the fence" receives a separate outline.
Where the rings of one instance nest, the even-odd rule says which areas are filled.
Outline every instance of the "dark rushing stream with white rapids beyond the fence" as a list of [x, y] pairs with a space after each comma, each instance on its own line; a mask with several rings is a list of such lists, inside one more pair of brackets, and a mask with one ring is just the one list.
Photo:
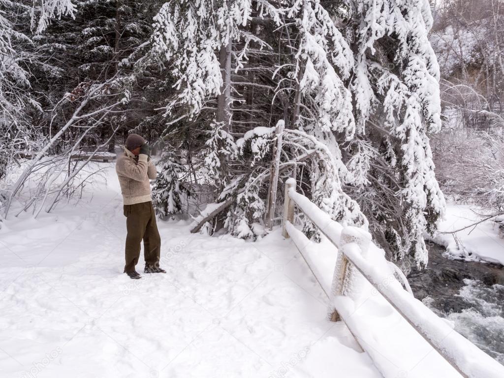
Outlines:
[[408, 276], [415, 297], [504, 364], [504, 267], [448, 259], [431, 242], [427, 248], [428, 267]]

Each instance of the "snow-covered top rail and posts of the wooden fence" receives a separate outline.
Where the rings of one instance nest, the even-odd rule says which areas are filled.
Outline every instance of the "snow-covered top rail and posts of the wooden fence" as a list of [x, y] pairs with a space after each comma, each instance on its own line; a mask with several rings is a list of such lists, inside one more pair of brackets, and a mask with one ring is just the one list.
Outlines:
[[[348, 309], [348, 302], [351, 298], [347, 295], [347, 288], [352, 286], [353, 281], [359, 279], [357, 275], [360, 273], [413, 329], [462, 376], [467, 378], [504, 377], [504, 366], [453, 330], [421, 301], [404, 290], [399, 281], [390, 282], [390, 276], [379, 269], [380, 267], [377, 268], [374, 264], [369, 263], [369, 259], [366, 257], [370, 257], [369, 254], [372, 253], [379, 255], [379, 248], [372, 243], [368, 232], [357, 227], [343, 227], [333, 221], [317, 205], [305, 196], [296, 193], [295, 179], [288, 179], [285, 185], [283, 235], [285, 237], [292, 236], [294, 244], [301, 252], [308, 242], [302, 232], [292, 224], [295, 204], [338, 248], [330, 293], [331, 320], [341, 319], [354, 336], [360, 334], [358, 325], [353, 319], [350, 319], [352, 311]], [[373, 259], [375, 260], [376, 256], [373, 255]], [[382, 255], [380, 255], [380, 259], [383, 260], [383, 264], [388, 264]], [[383, 264], [381, 267], [384, 266]], [[373, 359], [376, 367], [380, 369], [380, 364], [373, 358], [374, 351], [366, 350], [366, 345], [363, 346], [363, 349]]]

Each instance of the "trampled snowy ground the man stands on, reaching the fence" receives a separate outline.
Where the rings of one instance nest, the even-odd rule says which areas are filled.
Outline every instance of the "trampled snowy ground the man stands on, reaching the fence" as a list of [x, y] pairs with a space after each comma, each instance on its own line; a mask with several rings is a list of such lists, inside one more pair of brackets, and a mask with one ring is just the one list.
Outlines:
[[[122, 274], [122, 199], [113, 163], [99, 165], [106, 180], [77, 206], [0, 230], [1, 377], [382, 376], [326, 319], [324, 291], [280, 230], [252, 243], [159, 221], [167, 274]], [[305, 252], [328, 291], [334, 247]], [[350, 319], [386, 378], [459, 376], [379, 294], [360, 303]]]

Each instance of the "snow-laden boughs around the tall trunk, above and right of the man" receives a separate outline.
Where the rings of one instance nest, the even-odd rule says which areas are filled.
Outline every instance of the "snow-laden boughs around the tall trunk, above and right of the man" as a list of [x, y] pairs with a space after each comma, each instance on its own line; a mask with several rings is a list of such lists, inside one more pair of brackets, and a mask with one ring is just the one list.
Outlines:
[[[269, 15], [278, 20], [278, 10], [268, 2], [255, 5], [263, 17]], [[249, 0], [170, 0], [161, 7], [154, 17], [152, 52], [169, 63], [178, 91], [176, 99], [166, 106], [167, 114], [175, 105], [182, 105], [185, 115], [194, 117], [209, 98], [221, 94], [223, 75], [218, 56], [221, 49], [243, 42], [241, 50], [233, 50], [236, 67], [247, 59], [251, 41], [265, 45], [245, 28], [252, 12]]]

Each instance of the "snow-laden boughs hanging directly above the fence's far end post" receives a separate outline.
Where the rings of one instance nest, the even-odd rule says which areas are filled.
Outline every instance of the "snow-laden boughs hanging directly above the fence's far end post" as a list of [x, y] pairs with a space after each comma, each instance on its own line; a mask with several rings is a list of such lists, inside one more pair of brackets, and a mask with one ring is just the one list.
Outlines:
[[[298, 101], [310, 110], [295, 119], [296, 126], [322, 140], [323, 133], [332, 132], [351, 139], [355, 122], [352, 96], [345, 81], [354, 65], [352, 50], [319, 0], [291, 3], [287, 17], [296, 22], [290, 34], [296, 35], [297, 44], [293, 70], [286, 76], [298, 80]], [[333, 149], [337, 147], [334, 141], [328, 144]]]

